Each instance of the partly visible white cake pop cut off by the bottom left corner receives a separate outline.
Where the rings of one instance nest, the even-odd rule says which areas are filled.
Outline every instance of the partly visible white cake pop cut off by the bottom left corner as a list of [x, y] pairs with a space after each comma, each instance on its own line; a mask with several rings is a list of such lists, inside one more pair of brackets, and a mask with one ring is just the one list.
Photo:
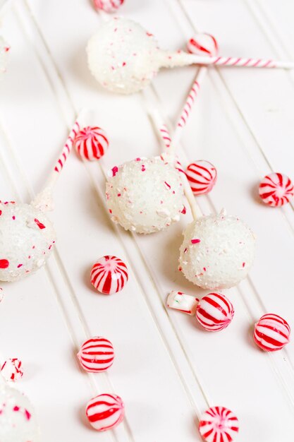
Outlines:
[[0, 441], [40, 441], [39, 426], [30, 401], [7, 384], [0, 386]]

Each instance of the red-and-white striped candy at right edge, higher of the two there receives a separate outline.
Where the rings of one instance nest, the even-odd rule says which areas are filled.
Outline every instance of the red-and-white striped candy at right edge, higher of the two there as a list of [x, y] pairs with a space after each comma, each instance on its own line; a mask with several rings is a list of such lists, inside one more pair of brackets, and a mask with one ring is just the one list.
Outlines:
[[265, 204], [281, 207], [294, 195], [293, 183], [287, 175], [274, 173], [262, 179], [259, 184], [259, 196]]

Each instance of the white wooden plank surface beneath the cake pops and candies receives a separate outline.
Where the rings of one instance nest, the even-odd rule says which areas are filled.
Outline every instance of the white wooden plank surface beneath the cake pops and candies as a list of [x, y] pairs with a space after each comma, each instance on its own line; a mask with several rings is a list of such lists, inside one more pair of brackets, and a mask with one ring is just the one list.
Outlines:
[[[292, 0], [126, 0], [121, 13], [162, 47], [182, 48], [195, 30], [205, 30], [223, 54], [294, 60]], [[252, 342], [252, 325], [274, 312], [294, 328], [293, 205], [272, 210], [256, 198], [267, 172], [294, 178], [294, 73], [211, 69], [185, 131], [183, 158], [207, 159], [219, 172], [212, 193], [199, 198], [204, 213], [226, 207], [258, 237], [250, 277], [226, 293], [233, 323], [204, 333], [165, 307], [171, 289], [204, 294], [176, 270], [190, 215], [164, 233], [139, 237], [114, 227], [104, 205], [106, 169], [159, 152], [146, 97], [172, 124], [196, 70], [163, 71], [145, 95], [111, 95], [86, 66], [85, 44], [99, 23], [90, 0], [17, 0], [1, 23], [12, 47], [0, 84], [1, 199], [30, 201], [41, 189], [81, 107], [95, 109], [111, 138], [100, 164], [68, 160], [52, 213], [59, 239], [47, 267], [2, 285], [1, 357], [23, 360], [19, 388], [35, 404], [44, 442], [200, 441], [197, 419], [211, 405], [238, 415], [238, 441], [291, 441], [294, 344], [265, 354]], [[111, 297], [88, 282], [90, 266], [106, 253], [130, 269], [128, 285]], [[88, 376], [78, 367], [75, 352], [89, 334], [114, 342], [107, 374]], [[84, 407], [106, 391], [125, 401], [125, 423], [97, 434]]]

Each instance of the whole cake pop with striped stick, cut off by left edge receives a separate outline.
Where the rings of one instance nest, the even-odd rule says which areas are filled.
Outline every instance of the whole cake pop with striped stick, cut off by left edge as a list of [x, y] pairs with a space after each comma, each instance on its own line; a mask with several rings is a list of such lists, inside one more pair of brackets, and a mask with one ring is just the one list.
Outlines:
[[63, 146], [44, 190], [30, 204], [0, 201], [0, 281], [17, 281], [41, 268], [56, 241], [52, 222], [44, 213], [52, 208], [56, 179], [71, 152], [80, 117]]

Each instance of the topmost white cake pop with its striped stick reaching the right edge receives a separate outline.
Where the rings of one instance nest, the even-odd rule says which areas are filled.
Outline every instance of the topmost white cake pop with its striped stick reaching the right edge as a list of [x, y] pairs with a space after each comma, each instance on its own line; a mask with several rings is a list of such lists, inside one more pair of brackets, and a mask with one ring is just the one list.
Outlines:
[[160, 68], [190, 64], [294, 68], [293, 62], [164, 51], [141, 25], [121, 17], [104, 23], [90, 38], [87, 59], [90, 71], [104, 88], [123, 94], [145, 88]]

